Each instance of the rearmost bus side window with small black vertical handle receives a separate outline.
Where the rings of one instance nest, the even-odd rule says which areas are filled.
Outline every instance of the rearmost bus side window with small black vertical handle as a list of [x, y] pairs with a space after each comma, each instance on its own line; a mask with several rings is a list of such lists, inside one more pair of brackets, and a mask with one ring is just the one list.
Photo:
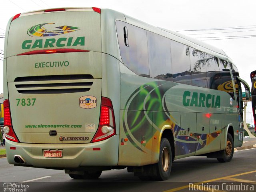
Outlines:
[[116, 30], [124, 65], [137, 75], [149, 77], [146, 30], [122, 21], [116, 21]]

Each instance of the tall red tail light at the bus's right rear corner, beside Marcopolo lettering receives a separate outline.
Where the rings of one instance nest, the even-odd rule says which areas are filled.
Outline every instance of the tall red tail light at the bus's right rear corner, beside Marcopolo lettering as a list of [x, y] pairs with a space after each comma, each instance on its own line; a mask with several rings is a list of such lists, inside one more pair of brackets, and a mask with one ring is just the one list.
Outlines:
[[108, 139], [116, 134], [116, 124], [112, 102], [109, 98], [101, 98], [100, 122], [92, 142]]

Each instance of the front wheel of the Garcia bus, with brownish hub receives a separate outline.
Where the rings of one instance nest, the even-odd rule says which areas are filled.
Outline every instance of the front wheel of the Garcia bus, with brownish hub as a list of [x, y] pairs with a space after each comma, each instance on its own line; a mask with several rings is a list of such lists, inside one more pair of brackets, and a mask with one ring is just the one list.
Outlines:
[[220, 151], [220, 158], [217, 158], [218, 162], [226, 163], [230, 162], [234, 155], [234, 140], [230, 133], [227, 135], [226, 148]]

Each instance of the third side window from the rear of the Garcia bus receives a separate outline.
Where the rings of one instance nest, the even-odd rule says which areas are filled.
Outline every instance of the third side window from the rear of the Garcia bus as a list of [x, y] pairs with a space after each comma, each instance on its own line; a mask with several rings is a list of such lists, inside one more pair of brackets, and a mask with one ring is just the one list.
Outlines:
[[170, 40], [173, 82], [191, 85], [189, 47]]

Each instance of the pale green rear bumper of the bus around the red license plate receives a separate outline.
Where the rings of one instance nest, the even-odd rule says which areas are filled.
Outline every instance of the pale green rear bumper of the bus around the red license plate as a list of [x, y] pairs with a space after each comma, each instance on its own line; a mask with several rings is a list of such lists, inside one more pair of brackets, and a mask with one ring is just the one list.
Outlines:
[[[62, 157], [44, 157], [44, 150], [62, 150]], [[116, 166], [118, 135], [87, 144], [28, 144], [6, 140], [6, 155], [10, 164], [41, 168], [79, 168], [82, 166]], [[14, 161], [21, 157], [24, 163]]]

